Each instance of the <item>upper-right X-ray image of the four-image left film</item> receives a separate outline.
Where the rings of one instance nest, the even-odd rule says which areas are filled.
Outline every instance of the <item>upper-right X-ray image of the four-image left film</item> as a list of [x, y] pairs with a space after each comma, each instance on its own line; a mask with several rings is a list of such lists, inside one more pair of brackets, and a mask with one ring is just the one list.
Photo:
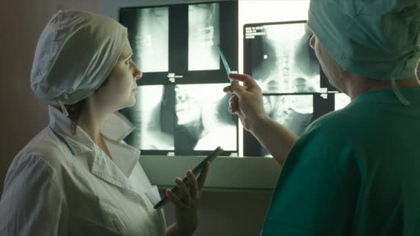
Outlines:
[[188, 6], [188, 70], [219, 70], [220, 3]]

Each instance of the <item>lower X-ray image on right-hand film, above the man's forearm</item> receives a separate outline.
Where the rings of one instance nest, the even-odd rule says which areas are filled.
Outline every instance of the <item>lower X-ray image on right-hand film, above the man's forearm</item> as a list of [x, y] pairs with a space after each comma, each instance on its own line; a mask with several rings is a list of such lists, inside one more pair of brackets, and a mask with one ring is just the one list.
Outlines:
[[264, 96], [262, 99], [267, 115], [298, 136], [314, 114], [312, 95]]

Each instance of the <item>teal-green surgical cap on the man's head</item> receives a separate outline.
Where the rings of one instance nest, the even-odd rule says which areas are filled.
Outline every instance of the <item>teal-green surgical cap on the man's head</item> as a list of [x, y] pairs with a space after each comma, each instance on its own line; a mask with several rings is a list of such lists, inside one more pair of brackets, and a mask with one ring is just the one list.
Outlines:
[[348, 72], [393, 83], [414, 76], [420, 0], [311, 0], [309, 26]]

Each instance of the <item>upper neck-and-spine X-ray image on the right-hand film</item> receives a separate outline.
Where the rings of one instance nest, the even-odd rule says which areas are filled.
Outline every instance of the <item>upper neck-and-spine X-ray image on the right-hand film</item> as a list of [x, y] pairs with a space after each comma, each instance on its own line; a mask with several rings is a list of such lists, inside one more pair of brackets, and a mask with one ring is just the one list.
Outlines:
[[[305, 23], [262, 26], [259, 41], [262, 53], [254, 58], [251, 74], [264, 93], [319, 92], [319, 63], [309, 46]], [[256, 50], [255, 48], [252, 50]]]

